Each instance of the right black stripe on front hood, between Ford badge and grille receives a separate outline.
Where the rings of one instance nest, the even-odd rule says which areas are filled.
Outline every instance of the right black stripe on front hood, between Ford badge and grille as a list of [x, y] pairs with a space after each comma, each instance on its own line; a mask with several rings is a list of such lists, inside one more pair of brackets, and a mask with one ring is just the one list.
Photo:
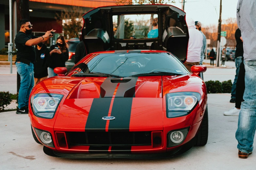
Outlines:
[[109, 121], [109, 132], [129, 131], [132, 99], [121, 97], [114, 99], [111, 116], [115, 119]]

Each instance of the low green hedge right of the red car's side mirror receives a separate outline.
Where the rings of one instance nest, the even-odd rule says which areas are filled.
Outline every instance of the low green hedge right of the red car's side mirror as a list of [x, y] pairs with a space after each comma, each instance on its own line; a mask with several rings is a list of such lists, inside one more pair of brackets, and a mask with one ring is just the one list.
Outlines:
[[206, 81], [207, 93], [231, 93], [232, 82], [231, 80], [220, 82], [216, 81]]

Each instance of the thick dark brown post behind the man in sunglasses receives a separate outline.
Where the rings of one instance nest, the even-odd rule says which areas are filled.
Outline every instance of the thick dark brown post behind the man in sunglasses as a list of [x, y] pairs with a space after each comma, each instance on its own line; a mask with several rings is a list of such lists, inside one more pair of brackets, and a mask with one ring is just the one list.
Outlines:
[[[17, 31], [20, 30], [19, 22], [21, 19], [29, 20], [29, 0], [16, 0], [16, 14], [17, 14]], [[15, 33], [17, 34], [17, 33]], [[17, 72], [17, 94], [21, 86], [21, 77]]]

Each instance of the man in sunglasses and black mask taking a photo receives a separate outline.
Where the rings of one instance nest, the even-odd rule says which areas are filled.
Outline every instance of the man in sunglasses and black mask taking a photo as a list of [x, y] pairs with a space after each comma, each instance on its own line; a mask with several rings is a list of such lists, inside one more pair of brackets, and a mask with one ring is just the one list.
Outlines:
[[19, 22], [20, 31], [14, 38], [17, 57], [15, 65], [17, 72], [21, 77], [21, 85], [19, 90], [18, 108], [16, 114], [28, 114], [28, 98], [34, 85], [34, 61], [36, 52], [34, 45], [47, 41], [52, 37], [51, 31], [47, 31], [43, 36], [37, 37], [32, 35], [32, 25], [26, 20], [22, 19]]

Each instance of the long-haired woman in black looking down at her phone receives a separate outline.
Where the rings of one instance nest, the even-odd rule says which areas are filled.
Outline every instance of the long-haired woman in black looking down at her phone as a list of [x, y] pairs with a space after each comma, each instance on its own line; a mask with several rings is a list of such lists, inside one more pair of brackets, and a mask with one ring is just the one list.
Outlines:
[[68, 45], [64, 36], [57, 38], [57, 43], [50, 47], [50, 65], [48, 69], [49, 77], [57, 76], [53, 72], [56, 67], [65, 67], [65, 62], [68, 60]]

